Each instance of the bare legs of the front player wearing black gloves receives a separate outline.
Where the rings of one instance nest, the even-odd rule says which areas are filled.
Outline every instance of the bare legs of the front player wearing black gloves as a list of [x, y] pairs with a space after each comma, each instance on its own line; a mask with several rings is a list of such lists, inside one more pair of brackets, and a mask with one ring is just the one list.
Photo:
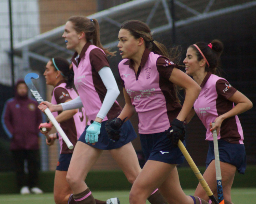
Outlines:
[[151, 192], [158, 187], [168, 203], [194, 204], [180, 187], [176, 165], [153, 160], [146, 162], [134, 182], [129, 195], [130, 204], [145, 204]]

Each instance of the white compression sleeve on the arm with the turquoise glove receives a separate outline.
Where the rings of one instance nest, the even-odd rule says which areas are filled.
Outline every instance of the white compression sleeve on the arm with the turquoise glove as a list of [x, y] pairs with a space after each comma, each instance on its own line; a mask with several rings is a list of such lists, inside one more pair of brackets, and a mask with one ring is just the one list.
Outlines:
[[98, 73], [103, 84], [107, 89], [106, 96], [103, 100], [100, 111], [97, 114], [97, 117], [104, 119], [106, 117], [106, 114], [109, 112], [110, 108], [114, 104], [116, 98], [120, 94], [120, 91], [118, 89], [115, 77], [110, 67], [103, 67], [102, 69], [100, 69]]

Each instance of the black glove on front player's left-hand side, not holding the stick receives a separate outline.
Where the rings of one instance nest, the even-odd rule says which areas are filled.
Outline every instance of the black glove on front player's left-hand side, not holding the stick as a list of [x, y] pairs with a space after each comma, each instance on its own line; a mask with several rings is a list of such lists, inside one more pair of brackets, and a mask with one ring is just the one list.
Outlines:
[[[127, 118], [127, 117], [126, 117]], [[125, 118], [125, 119], [126, 119]], [[125, 119], [122, 121], [120, 118], [109, 119], [105, 124], [106, 132], [108, 133], [109, 139], [112, 141], [118, 141], [120, 137], [120, 128], [123, 125]]]

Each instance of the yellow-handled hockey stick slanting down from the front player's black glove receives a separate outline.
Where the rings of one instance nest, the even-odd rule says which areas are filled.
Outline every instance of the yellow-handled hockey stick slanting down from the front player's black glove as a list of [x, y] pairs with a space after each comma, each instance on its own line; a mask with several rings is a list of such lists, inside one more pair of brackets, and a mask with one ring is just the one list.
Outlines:
[[[171, 132], [173, 132], [173, 130], [171, 130], [170, 133]], [[203, 187], [204, 191], [207, 193], [208, 197], [211, 199], [211, 201], [214, 204], [218, 204], [218, 201], [216, 200], [215, 196], [213, 195], [213, 192], [211, 191], [210, 187], [208, 186], [208, 184], [204, 180], [204, 178], [203, 178], [202, 174], [200, 173], [199, 169], [197, 168], [195, 162], [193, 161], [193, 159], [189, 155], [187, 149], [185, 148], [185, 146], [183, 145], [183, 143], [180, 139], [179, 139], [179, 142], [178, 142], [178, 147], [180, 148], [182, 154], [184, 155], [185, 159], [187, 160], [187, 163], [189, 164], [189, 166], [191, 167], [191, 169], [195, 173], [198, 181], [202, 185], [202, 187]]]

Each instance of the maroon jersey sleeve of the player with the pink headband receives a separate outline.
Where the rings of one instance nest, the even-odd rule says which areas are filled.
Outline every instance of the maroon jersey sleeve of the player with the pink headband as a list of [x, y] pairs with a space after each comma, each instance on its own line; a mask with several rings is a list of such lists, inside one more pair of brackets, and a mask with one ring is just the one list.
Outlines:
[[233, 86], [231, 86], [228, 81], [224, 79], [219, 79], [216, 82], [216, 91], [218, 95], [223, 96], [226, 99], [229, 99], [237, 91]]

